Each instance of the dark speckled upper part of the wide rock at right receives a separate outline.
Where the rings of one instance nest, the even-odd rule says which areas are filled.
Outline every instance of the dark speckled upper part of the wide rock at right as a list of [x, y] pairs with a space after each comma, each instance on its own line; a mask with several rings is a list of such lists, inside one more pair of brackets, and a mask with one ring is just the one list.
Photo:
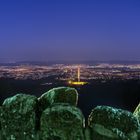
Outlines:
[[108, 128], [116, 127], [125, 133], [137, 130], [139, 127], [137, 119], [131, 112], [109, 106], [98, 106], [92, 110], [89, 125], [93, 123], [102, 124]]

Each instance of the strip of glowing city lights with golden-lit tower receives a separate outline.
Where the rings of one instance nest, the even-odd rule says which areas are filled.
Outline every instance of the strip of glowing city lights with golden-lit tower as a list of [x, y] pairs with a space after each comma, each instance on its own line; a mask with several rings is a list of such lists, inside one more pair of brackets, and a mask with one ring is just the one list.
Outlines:
[[67, 82], [71, 85], [85, 85], [90, 80], [140, 79], [140, 64], [0, 66], [0, 78], [45, 79], [49, 83], [56, 80], [56, 82]]

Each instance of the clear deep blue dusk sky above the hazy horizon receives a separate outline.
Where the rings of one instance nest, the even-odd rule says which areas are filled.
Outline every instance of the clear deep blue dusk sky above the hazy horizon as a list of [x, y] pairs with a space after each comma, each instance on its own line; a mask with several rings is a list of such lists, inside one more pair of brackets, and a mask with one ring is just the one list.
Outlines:
[[0, 62], [140, 60], [140, 0], [0, 0]]

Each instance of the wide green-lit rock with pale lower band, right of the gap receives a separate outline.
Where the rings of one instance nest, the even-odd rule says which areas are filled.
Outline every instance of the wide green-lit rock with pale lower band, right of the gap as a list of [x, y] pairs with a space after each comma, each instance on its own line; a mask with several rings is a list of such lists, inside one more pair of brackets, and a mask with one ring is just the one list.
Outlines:
[[138, 120], [128, 111], [98, 106], [92, 110], [88, 125], [94, 140], [138, 140]]

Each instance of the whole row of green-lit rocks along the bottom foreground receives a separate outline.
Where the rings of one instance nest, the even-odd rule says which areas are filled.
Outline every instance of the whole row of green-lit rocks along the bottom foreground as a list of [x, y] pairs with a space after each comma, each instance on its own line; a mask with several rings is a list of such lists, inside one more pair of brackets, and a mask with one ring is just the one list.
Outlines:
[[88, 125], [74, 88], [59, 87], [37, 99], [17, 94], [0, 107], [0, 140], [139, 140], [140, 105], [134, 114], [97, 106]]

